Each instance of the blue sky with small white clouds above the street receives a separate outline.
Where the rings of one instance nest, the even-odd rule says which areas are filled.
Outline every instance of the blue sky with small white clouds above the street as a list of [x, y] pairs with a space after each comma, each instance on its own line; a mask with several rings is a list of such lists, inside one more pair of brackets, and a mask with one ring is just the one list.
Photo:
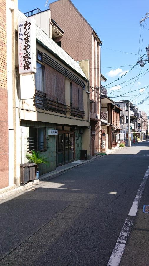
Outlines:
[[[47, 9], [46, 7], [44, 7], [45, 2], [46, 0], [18, 0], [18, 8], [23, 13], [37, 7], [43, 11]], [[49, 1], [49, 3], [52, 2], [53, 1]], [[113, 100], [130, 100], [134, 104], [139, 103], [145, 97], [149, 96], [149, 87], [147, 89], [144, 88], [149, 85], [148, 63], [146, 63], [143, 68], [138, 67], [138, 65], [135, 66], [133, 70], [125, 75], [125, 77], [120, 78], [120, 80], [112, 83], [111, 85], [107, 85], [115, 81], [132, 67], [128, 65], [134, 65], [138, 60], [140, 20], [143, 15], [149, 12], [148, 1], [72, 0], [72, 2], [90, 23], [90, 25], [92, 25], [103, 42], [101, 48], [101, 72], [107, 78], [107, 82], [102, 82], [102, 85], [108, 89], [108, 96], [114, 97], [130, 91], [130, 93], [124, 95], [127, 97], [121, 96], [118, 98], [113, 98]], [[140, 55], [143, 55], [145, 53], [145, 48], [149, 44], [149, 18], [145, 20], [145, 23], [142, 24], [144, 28], [142, 26]], [[122, 53], [113, 50], [124, 51], [128, 53]], [[131, 83], [130, 85], [128, 85], [130, 82], [120, 84], [137, 76], [139, 73], [140, 76], [144, 74], [145, 75], [143, 77], [138, 76], [138, 80], [136, 80], [136, 78], [131, 80], [130, 82], [133, 83]], [[121, 88], [125, 85], [128, 86]], [[141, 88], [142, 90], [140, 91]], [[132, 92], [132, 90], [137, 91]], [[145, 111], [149, 116], [149, 98], [143, 103], [144, 104], [138, 105], [137, 107], [139, 110]]]

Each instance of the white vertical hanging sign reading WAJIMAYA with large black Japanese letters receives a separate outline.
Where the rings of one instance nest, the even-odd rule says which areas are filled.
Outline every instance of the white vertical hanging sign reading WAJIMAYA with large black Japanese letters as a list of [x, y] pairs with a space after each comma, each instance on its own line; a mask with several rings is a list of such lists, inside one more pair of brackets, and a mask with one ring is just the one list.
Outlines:
[[19, 74], [36, 73], [36, 24], [33, 18], [18, 22]]

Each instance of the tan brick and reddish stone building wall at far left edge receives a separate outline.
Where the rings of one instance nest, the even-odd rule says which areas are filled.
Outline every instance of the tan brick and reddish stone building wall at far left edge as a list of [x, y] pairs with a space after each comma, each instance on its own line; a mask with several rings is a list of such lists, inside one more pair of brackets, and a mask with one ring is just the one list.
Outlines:
[[8, 95], [7, 95], [7, 47], [6, 1], [0, 0], [0, 189], [8, 182]]

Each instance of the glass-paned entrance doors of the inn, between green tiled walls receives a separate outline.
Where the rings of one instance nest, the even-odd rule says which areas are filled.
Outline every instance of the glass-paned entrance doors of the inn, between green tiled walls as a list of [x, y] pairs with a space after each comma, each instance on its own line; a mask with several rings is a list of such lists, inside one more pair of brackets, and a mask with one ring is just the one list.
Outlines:
[[56, 137], [56, 166], [74, 161], [74, 134], [58, 133]]

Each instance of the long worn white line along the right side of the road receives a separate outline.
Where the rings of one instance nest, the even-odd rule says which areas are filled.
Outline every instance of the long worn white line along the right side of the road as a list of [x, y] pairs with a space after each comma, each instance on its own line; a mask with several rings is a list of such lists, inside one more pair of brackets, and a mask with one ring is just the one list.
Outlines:
[[137, 214], [138, 207], [140, 204], [140, 200], [141, 200], [143, 191], [145, 189], [146, 182], [148, 180], [148, 176], [149, 176], [149, 166], [148, 166], [148, 169], [145, 173], [145, 176], [143, 177], [143, 180], [142, 180], [141, 185], [138, 189], [138, 192], [137, 192], [137, 195], [136, 195], [135, 200], [133, 202], [133, 205], [132, 205], [130, 212], [128, 214], [128, 217], [124, 223], [122, 231], [120, 232], [120, 235], [117, 239], [117, 243], [116, 243], [116, 245], [112, 251], [112, 254], [111, 254], [111, 257], [107, 263], [107, 266], [120, 265], [122, 255], [123, 255], [124, 250], [125, 250], [126, 242], [128, 240], [131, 228], [133, 226], [134, 219], [135, 219], [135, 216]]

